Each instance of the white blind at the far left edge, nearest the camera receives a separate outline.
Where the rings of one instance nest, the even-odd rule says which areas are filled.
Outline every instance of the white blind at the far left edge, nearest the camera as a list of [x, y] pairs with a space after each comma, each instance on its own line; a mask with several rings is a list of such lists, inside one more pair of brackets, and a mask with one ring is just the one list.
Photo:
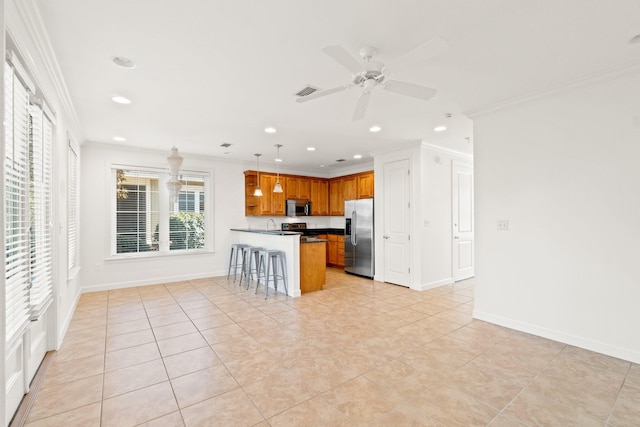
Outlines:
[[29, 95], [5, 63], [5, 292], [6, 340], [29, 320]]

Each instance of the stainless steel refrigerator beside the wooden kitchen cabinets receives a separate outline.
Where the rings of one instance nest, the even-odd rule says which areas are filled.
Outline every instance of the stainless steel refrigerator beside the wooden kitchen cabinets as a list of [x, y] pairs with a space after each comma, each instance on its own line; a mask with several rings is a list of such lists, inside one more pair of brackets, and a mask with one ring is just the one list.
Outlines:
[[373, 279], [373, 199], [344, 202], [344, 271]]

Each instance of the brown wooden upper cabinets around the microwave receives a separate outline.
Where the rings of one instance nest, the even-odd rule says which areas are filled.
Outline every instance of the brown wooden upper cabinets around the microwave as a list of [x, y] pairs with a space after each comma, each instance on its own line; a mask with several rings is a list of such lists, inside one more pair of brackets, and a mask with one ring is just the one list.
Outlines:
[[245, 171], [245, 215], [286, 215], [286, 200], [310, 200], [315, 216], [343, 216], [344, 201], [373, 197], [373, 171], [337, 178], [280, 175], [283, 192], [274, 193], [276, 175], [260, 173], [262, 196], [253, 193], [258, 184], [256, 171]]

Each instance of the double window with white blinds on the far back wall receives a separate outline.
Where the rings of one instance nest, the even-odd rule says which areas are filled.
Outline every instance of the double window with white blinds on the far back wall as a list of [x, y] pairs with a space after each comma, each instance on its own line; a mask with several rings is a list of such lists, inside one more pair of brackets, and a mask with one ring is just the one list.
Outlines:
[[169, 196], [166, 175], [166, 171], [153, 169], [112, 169], [115, 255], [206, 248], [208, 175], [181, 176], [182, 189], [176, 199]]

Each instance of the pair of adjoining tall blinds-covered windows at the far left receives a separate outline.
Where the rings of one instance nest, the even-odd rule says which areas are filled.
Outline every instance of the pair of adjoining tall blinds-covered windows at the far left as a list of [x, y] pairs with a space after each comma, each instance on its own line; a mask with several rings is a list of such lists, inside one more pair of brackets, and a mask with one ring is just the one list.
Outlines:
[[4, 67], [5, 335], [12, 342], [52, 298], [53, 124], [26, 77]]

